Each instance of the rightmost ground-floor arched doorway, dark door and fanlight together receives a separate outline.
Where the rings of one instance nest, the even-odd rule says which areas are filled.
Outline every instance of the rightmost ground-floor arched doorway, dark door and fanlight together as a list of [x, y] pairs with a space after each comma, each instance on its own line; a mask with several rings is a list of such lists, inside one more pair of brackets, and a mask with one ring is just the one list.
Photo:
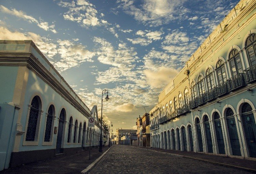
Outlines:
[[248, 103], [242, 106], [242, 120], [245, 139], [250, 157], [256, 157], [256, 124], [252, 107]]

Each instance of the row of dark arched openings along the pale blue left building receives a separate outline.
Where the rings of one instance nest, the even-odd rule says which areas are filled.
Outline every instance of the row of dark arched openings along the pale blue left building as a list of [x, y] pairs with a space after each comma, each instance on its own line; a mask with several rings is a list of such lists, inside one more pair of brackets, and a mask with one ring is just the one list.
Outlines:
[[[28, 108], [28, 116], [25, 128], [26, 143], [38, 142], [40, 135], [40, 124], [42, 120], [42, 100], [38, 95], [35, 95]], [[57, 118], [57, 119], [56, 119]], [[81, 144], [82, 147], [91, 140], [91, 145], [97, 145], [100, 139], [100, 132], [93, 128], [86, 127], [86, 121], [79, 121], [77, 118], [73, 122], [73, 116], [69, 117], [67, 122], [67, 115], [65, 108], [61, 108], [59, 115], [56, 114], [54, 104], [50, 104], [46, 117], [43, 134], [43, 145], [53, 145], [54, 125], [55, 120], [58, 120], [58, 130], [56, 139], [56, 153], [61, 153], [65, 140], [68, 144]], [[66, 125], [68, 126], [68, 132], [66, 133]], [[51, 143], [51, 144], [47, 144]]]

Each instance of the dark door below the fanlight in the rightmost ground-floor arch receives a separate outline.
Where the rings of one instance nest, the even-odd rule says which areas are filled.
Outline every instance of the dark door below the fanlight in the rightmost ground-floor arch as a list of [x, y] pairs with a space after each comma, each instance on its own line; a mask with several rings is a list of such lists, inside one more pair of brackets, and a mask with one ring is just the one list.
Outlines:
[[250, 157], [256, 157], [256, 125], [253, 113], [242, 116], [245, 139]]

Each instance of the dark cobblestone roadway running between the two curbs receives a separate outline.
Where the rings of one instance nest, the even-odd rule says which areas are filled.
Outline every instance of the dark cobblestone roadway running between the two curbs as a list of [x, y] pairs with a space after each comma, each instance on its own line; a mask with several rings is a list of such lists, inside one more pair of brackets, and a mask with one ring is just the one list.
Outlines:
[[90, 174], [246, 174], [250, 172], [127, 145], [113, 145]]

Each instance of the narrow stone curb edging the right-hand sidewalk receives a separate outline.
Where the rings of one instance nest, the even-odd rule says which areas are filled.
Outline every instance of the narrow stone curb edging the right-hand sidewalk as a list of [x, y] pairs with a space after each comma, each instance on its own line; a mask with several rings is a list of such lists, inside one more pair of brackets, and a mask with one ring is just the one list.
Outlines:
[[[132, 147], [140, 148], [140, 147], [136, 147], [136, 146], [132, 146]], [[239, 170], [243, 170], [243, 171], [247, 171], [247, 172], [251, 172], [251, 173], [256, 173], [256, 170], [254, 170], [254, 169], [248, 169], [248, 168], [239, 167], [239, 166], [236, 166], [236, 165], [225, 164], [225, 163], [221, 163], [221, 162], [215, 162], [215, 161], [210, 161], [210, 160], [200, 159], [200, 158], [194, 158], [194, 157], [189, 157], [189, 156], [184, 156], [184, 155], [171, 154], [171, 153], [168, 153], [168, 152], [155, 151], [155, 150], [146, 149], [146, 148], [142, 148], [142, 149], [145, 149], [145, 150], [148, 150], [148, 151], [160, 152], [160, 153], [163, 153], [163, 154], [169, 154], [169, 155], [172, 155], [172, 156], [178, 156], [178, 157], [183, 157], [183, 158], [189, 158], [189, 159], [194, 159], [194, 160], [198, 160], [198, 161], [208, 162], [208, 163], [221, 165], [221, 166], [228, 167], [228, 168], [235, 168], [235, 169], [239, 169]]]

